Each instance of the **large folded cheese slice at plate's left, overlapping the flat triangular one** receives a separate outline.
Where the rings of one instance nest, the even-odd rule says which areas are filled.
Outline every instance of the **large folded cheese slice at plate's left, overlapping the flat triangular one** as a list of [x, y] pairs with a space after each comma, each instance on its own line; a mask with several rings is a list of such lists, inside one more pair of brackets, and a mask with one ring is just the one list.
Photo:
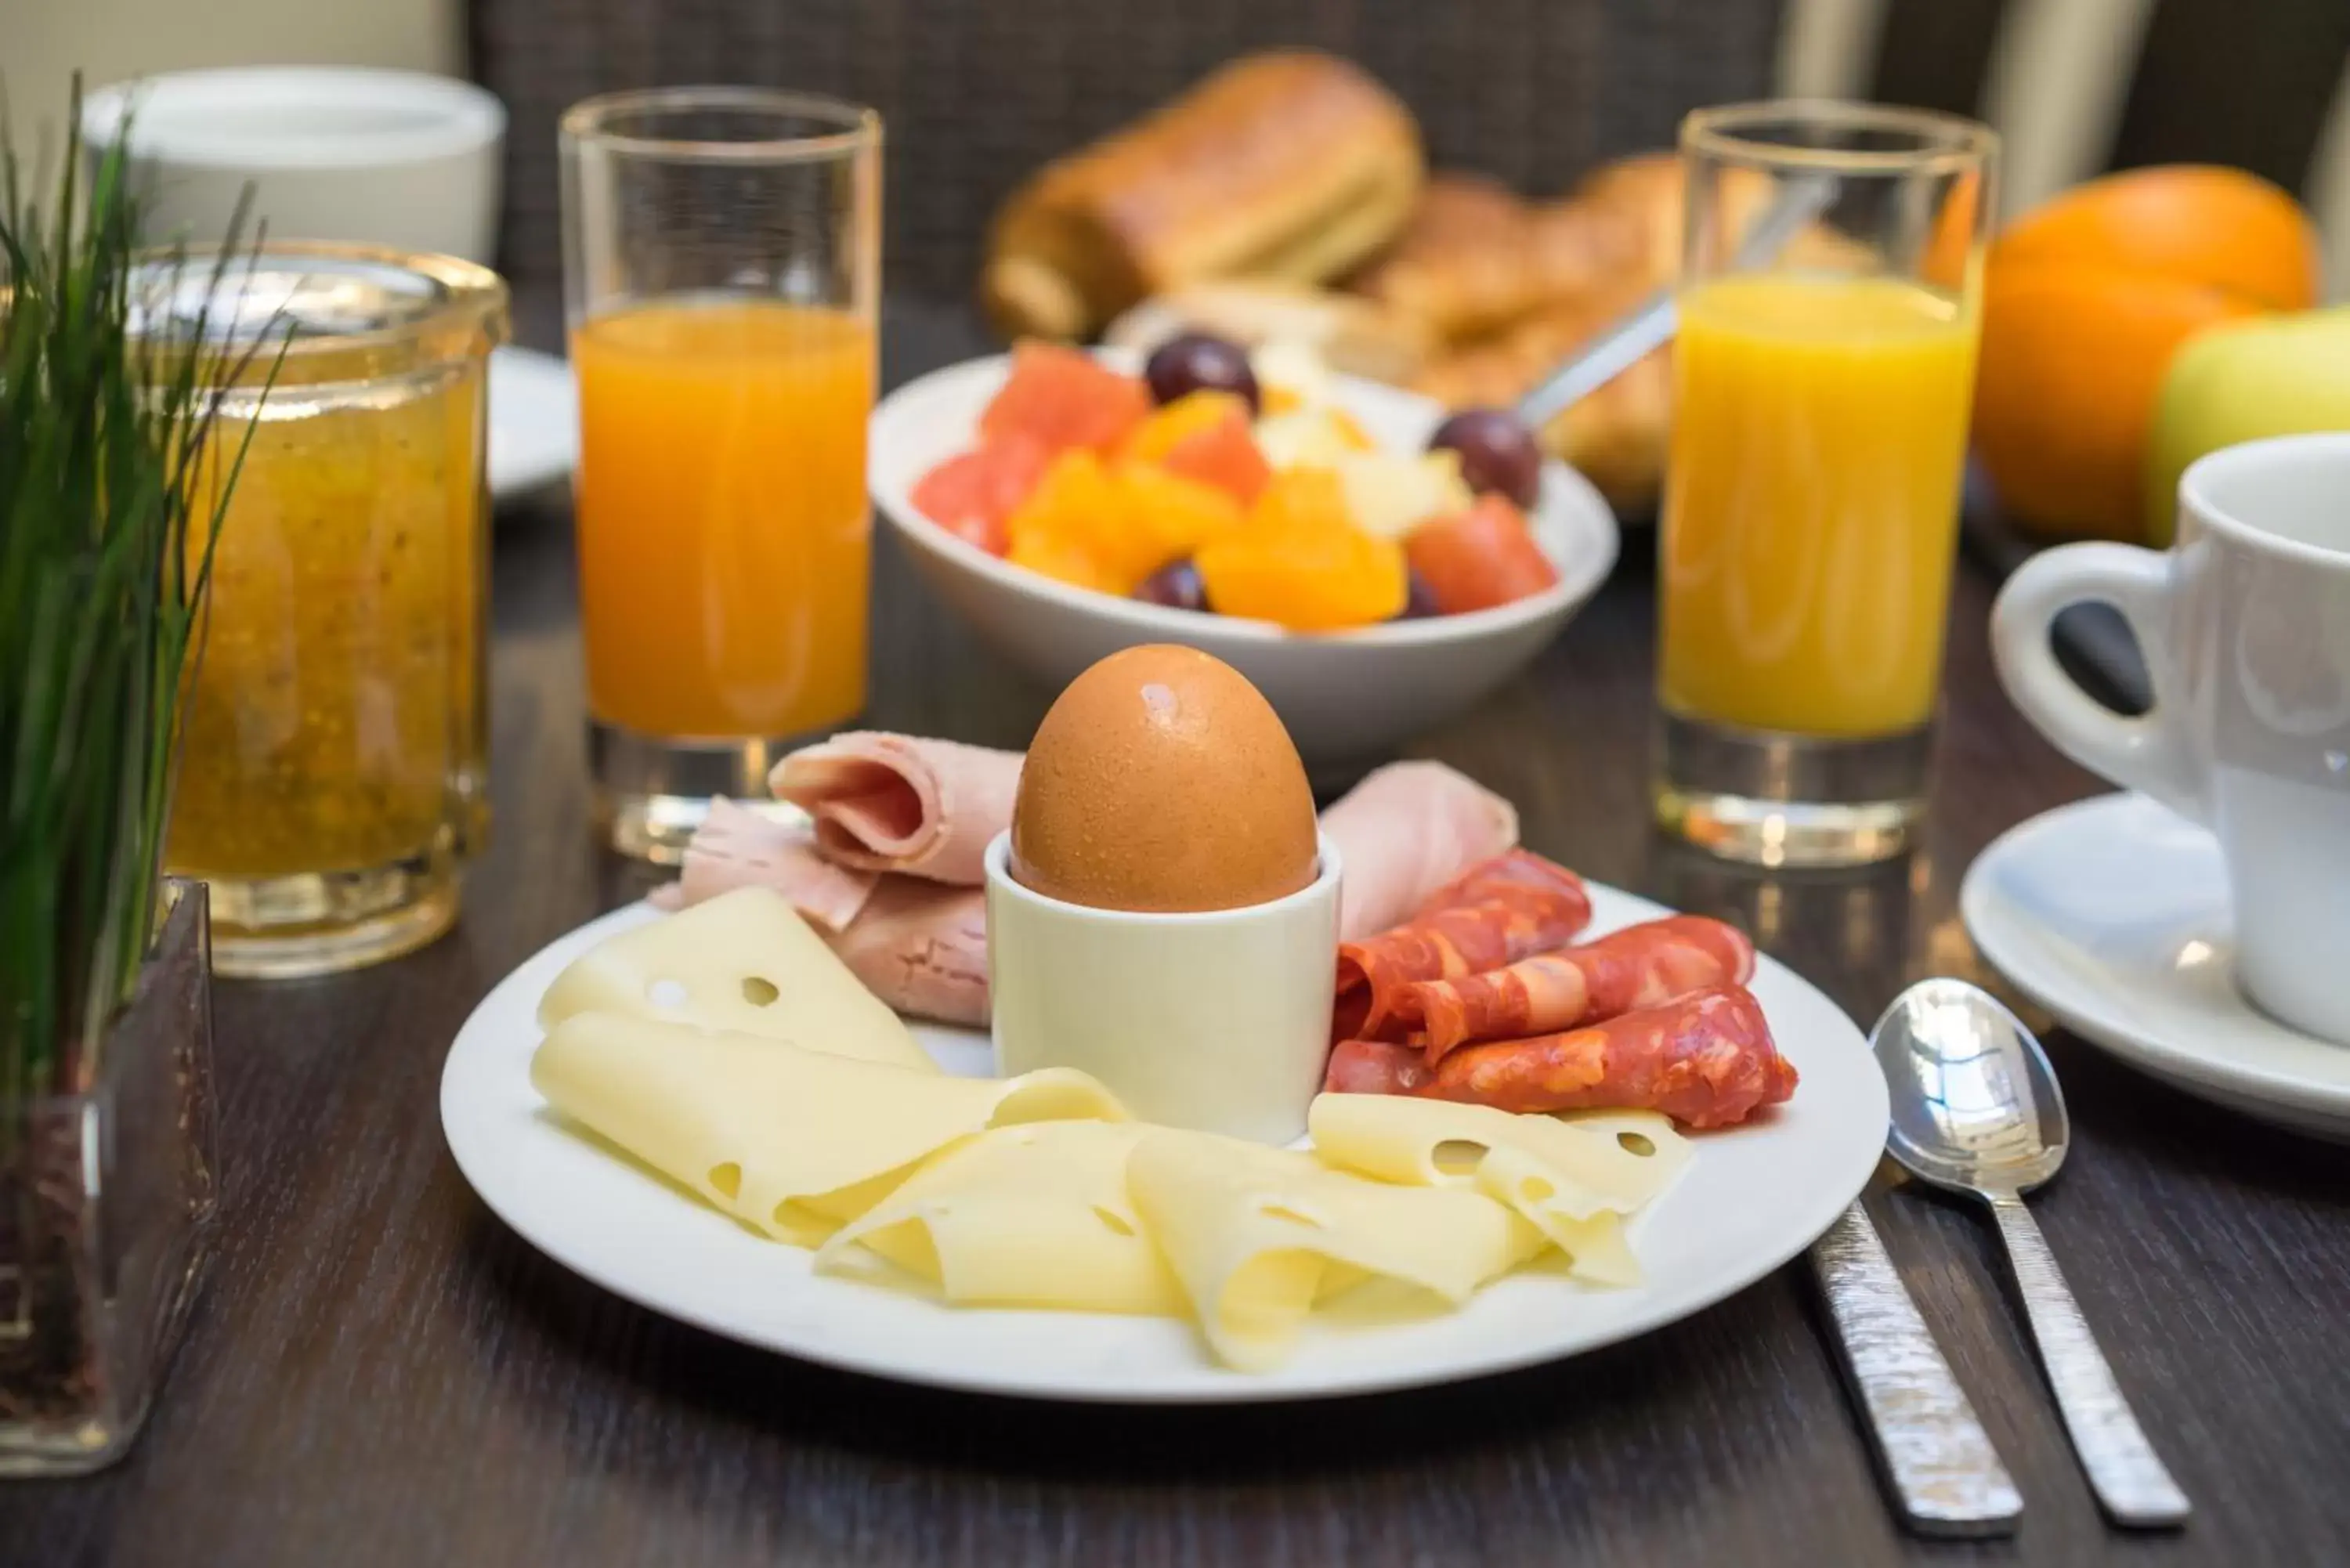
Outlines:
[[940, 1150], [989, 1126], [1123, 1121], [1083, 1072], [949, 1079], [790, 1041], [576, 1013], [531, 1058], [555, 1110], [745, 1225], [815, 1246]]

